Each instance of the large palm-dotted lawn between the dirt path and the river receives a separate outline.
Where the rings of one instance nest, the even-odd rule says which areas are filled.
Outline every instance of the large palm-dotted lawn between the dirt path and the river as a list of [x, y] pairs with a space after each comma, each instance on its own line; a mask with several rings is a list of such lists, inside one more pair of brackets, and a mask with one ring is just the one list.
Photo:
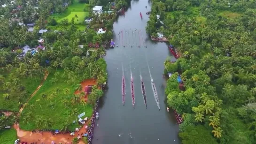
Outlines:
[[[67, 81], [67, 76], [63, 76], [63, 70], [58, 69], [57, 72], [58, 73], [52, 72], [49, 74], [43, 86], [37, 94], [30, 99], [28, 106], [24, 108], [19, 123], [21, 129], [62, 129], [64, 123], [68, 123], [70, 124], [68, 129], [74, 130], [79, 127], [77, 123], [72, 124], [72, 121], [76, 120], [78, 114], [85, 112], [85, 116], [87, 117], [92, 115], [92, 105], [82, 105], [81, 102], [71, 104], [72, 97], [74, 96], [73, 93], [77, 89], [80, 80], [75, 78], [75, 84], [70, 83], [70, 80], [68, 80], [69, 82]], [[54, 76], [55, 74], [57, 74], [57, 76]], [[56, 83], [51, 83], [53, 78], [57, 78]], [[55, 96], [51, 97], [53, 93], [55, 93]], [[39, 103], [37, 102], [38, 99]], [[31, 107], [31, 105], [34, 105], [34, 107]], [[27, 119], [27, 121], [24, 121], [25, 119]], [[47, 122], [47, 120], [51, 122]]]

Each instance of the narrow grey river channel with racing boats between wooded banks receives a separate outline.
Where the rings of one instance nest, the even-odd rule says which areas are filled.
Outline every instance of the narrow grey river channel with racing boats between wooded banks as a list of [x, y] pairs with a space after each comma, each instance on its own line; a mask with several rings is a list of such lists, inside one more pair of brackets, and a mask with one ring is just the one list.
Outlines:
[[[104, 97], [100, 101], [100, 119], [96, 121], [98, 126], [94, 130], [93, 144], [179, 144], [178, 124], [174, 114], [166, 111], [164, 95], [163, 62], [171, 54], [165, 43], [152, 42], [146, 34], [146, 12], [150, 10], [150, 6], [147, 0], [132, 0], [125, 15], [119, 16], [114, 23], [113, 39], [118, 47], [107, 50], [105, 57], [109, 77]], [[121, 30], [123, 32], [120, 32]], [[158, 93], [161, 111], [155, 102], [147, 62]], [[121, 88], [122, 66], [126, 84], [124, 106]], [[135, 109], [132, 107], [131, 71]], [[140, 87], [140, 73], [147, 94], [147, 109]], [[121, 136], [118, 136], [119, 134]]]

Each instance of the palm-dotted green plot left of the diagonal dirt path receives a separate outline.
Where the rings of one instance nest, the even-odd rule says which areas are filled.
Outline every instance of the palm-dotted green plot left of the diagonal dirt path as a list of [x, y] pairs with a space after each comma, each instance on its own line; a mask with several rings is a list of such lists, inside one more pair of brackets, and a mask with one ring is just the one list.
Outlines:
[[[22, 69], [25, 72], [27, 69]], [[17, 68], [13, 68], [0, 83], [0, 110], [19, 111], [20, 106], [30, 98], [39, 86], [43, 75], [24, 76], [20, 78]], [[8, 95], [8, 97], [6, 97]]]

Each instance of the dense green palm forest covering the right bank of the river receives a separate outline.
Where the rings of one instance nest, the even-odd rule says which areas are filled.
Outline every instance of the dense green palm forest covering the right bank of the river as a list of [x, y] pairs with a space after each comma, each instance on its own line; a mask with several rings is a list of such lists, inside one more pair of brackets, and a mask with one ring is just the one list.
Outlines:
[[164, 73], [174, 73], [165, 94], [182, 114], [182, 143], [255, 144], [256, 1], [153, 0], [147, 32], [181, 53]]

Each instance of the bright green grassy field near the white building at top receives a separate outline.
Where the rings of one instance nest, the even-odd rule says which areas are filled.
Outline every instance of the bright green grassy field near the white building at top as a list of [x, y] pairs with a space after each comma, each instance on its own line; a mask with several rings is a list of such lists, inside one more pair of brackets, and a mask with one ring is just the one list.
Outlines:
[[[84, 9], [87, 9], [87, 11], [84, 11]], [[51, 15], [51, 18], [54, 18], [57, 23], [60, 23], [63, 19], [68, 19], [69, 22], [71, 22], [72, 17], [77, 15], [78, 18], [75, 18], [74, 23], [79, 24], [84, 23], [85, 16], [89, 15], [88, 11], [88, 4], [78, 3], [78, 0], [73, 0], [73, 3], [66, 9], [65, 12], [61, 14], [53, 14]]]

